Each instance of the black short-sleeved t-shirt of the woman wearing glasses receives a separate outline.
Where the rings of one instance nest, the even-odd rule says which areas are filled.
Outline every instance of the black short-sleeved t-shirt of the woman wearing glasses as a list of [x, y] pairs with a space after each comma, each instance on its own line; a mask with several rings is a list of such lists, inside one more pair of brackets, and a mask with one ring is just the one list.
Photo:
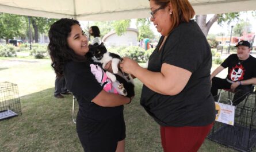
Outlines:
[[[163, 41], [163, 37], [159, 44]], [[163, 63], [187, 69], [192, 75], [185, 88], [174, 96], [156, 93], [143, 85], [140, 103], [161, 126], [206, 126], [215, 120], [211, 95], [212, 54], [194, 21], [182, 23], [169, 34], [161, 50], [151, 54], [148, 70], [161, 72]]]

